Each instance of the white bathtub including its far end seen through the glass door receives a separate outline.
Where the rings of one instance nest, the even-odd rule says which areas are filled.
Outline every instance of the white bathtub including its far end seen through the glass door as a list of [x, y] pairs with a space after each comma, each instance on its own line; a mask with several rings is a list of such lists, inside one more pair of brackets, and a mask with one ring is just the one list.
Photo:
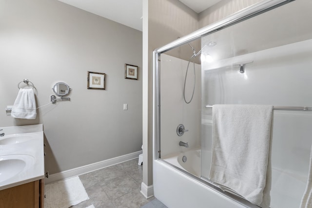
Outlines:
[[[211, 151], [205, 151], [204, 155], [209, 163], [211, 157], [207, 157], [211, 156]], [[200, 149], [189, 149], [154, 160], [155, 197], [169, 208], [207, 208], [208, 204], [211, 208], [259, 208], [229, 189], [212, 185], [207, 179], [209, 172], [201, 173], [200, 161]], [[205, 167], [210, 167], [210, 164], [205, 164]], [[299, 207], [306, 180], [305, 176], [272, 167], [270, 207]]]

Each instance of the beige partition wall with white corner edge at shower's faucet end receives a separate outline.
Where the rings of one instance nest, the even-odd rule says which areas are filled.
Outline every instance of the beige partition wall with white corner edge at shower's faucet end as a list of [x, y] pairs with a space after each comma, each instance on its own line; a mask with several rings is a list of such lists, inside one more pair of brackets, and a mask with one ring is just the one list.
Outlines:
[[152, 53], [177, 37], [195, 31], [197, 21], [197, 14], [180, 1], [143, 0], [143, 183], [146, 186], [153, 184]]

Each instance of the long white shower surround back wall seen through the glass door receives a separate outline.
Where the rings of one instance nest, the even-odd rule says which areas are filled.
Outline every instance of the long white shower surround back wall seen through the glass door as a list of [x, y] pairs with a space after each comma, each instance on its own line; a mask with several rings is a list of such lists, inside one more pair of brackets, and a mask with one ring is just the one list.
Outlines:
[[[311, 48], [312, 39], [216, 61], [215, 65], [220, 64], [217, 69], [213, 64], [203, 63], [202, 105], [312, 106], [311, 96], [302, 90], [312, 88]], [[232, 67], [234, 60], [254, 62], [246, 65], [246, 72], [241, 74], [239, 67]], [[209, 120], [211, 108], [203, 107], [202, 112], [202, 117]], [[312, 112], [273, 111], [272, 208], [294, 208], [300, 205], [308, 178], [311, 123]], [[202, 146], [202, 158], [209, 158], [211, 132], [202, 138], [205, 144]], [[205, 152], [209, 155], [205, 155]], [[202, 176], [209, 178], [210, 167], [205, 167], [204, 161]]]

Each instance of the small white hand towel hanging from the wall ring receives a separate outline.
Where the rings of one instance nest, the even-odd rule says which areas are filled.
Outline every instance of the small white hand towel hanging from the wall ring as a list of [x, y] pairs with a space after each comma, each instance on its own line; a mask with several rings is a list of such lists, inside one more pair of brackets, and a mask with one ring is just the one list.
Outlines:
[[11, 116], [14, 118], [36, 119], [37, 109], [33, 89], [20, 89]]

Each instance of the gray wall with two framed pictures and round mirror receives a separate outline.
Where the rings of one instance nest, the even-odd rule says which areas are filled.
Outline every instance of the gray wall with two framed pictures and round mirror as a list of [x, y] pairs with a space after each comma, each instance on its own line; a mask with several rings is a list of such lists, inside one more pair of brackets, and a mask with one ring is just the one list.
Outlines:
[[[138, 80], [124, 78], [125, 63], [139, 67]], [[0, 71], [0, 126], [42, 123], [50, 173], [141, 150], [142, 32], [57, 0], [0, 0]], [[106, 73], [106, 90], [88, 90], [87, 71]], [[59, 81], [71, 101], [40, 108], [36, 120], [12, 118], [4, 109], [24, 78], [37, 106]]]

